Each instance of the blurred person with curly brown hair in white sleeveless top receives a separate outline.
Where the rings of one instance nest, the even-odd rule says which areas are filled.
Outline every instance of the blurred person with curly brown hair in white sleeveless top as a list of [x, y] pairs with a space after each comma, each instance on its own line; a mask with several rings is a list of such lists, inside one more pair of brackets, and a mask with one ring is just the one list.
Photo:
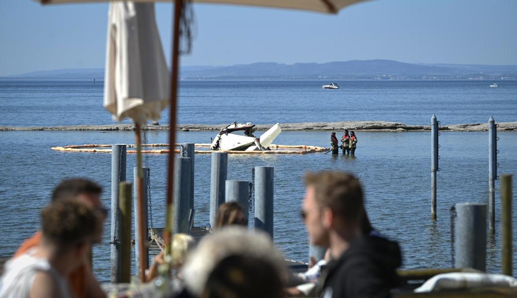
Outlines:
[[99, 229], [94, 212], [77, 200], [61, 200], [41, 211], [38, 246], [11, 259], [0, 279], [0, 297], [74, 295], [67, 276], [83, 265]]

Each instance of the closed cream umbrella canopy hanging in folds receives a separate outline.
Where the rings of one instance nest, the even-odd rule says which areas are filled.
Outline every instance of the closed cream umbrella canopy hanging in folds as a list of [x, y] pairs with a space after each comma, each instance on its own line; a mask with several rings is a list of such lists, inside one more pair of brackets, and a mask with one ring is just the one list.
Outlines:
[[169, 70], [153, 3], [110, 4], [104, 80], [104, 107], [115, 120], [145, 124], [169, 105]]

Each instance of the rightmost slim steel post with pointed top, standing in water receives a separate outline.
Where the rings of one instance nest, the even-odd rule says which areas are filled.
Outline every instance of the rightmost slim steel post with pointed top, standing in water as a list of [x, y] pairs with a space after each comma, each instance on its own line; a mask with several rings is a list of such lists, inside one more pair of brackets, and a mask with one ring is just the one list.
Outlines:
[[488, 163], [489, 163], [489, 230], [495, 232], [495, 180], [497, 180], [497, 126], [494, 117], [488, 120]]

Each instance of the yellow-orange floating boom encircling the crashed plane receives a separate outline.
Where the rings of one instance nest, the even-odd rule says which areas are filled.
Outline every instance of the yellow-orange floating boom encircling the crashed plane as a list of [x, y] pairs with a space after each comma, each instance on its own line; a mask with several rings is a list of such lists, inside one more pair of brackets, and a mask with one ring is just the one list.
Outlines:
[[[136, 148], [134, 144], [128, 144], [128, 148]], [[180, 144], [174, 144], [175, 147], [181, 146]], [[142, 147], [169, 147], [169, 144], [143, 144]], [[210, 147], [210, 144], [194, 144], [194, 147]], [[111, 145], [105, 144], [84, 144], [84, 145], [68, 145], [68, 146], [58, 146], [51, 147], [54, 151], [67, 151], [67, 152], [90, 152], [90, 153], [111, 153], [111, 149], [103, 149], [103, 148], [111, 148]], [[265, 151], [235, 151], [235, 150], [194, 150], [196, 154], [211, 154], [212, 152], [224, 152], [229, 154], [307, 154], [307, 153], [317, 153], [317, 152], [326, 152], [329, 148], [325, 147], [317, 147], [317, 146], [307, 146], [307, 145], [275, 145], [271, 144], [269, 146], [270, 149], [275, 150], [265, 150]], [[282, 150], [282, 148], [284, 148]], [[280, 149], [280, 150], [279, 150]], [[287, 150], [287, 149], [300, 149], [300, 150]], [[136, 150], [127, 150], [127, 153], [136, 153]], [[151, 150], [142, 150], [142, 153], [151, 153], [151, 154], [166, 154], [169, 153], [169, 149], [151, 149]], [[175, 149], [174, 153], [180, 153], [179, 149]]]

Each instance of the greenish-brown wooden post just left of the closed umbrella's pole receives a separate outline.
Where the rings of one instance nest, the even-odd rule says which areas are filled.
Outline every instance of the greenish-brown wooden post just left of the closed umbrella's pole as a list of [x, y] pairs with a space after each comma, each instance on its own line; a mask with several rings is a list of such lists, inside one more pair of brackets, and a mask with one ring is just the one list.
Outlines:
[[118, 282], [131, 281], [131, 188], [130, 182], [120, 182], [119, 185], [119, 252], [118, 252]]

